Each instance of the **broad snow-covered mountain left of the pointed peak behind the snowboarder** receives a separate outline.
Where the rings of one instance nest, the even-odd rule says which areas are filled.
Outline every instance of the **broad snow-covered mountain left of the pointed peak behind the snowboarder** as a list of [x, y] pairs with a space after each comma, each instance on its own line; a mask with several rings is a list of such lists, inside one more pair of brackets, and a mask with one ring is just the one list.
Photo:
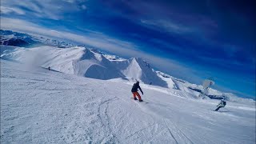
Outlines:
[[[1, 58], [14, 59], [16, 61], [27, 62], [31, 66], [50, 66], [52, 70], [57, 70], [66, 74], [76, 74], [87, 78], [111, 79], [125, 78], [113, 64], [102, 56], [102, 54], [81, 46], [62, 49], [51, 46], [40, 46], [36, 48], [16, 48], [12, 46], [2, 46], [12, 48], [3, 52]], [[34, 63], [36, 62], [36, 63]]]

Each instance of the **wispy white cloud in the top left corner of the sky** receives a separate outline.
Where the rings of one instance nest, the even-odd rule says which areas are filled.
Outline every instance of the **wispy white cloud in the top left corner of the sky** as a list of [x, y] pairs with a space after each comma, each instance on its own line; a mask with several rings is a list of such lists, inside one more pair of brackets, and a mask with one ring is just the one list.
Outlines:
[[69, 12], [77, 12], [86, 10], [85, 0], [2, 0], [2, 14], [27, 14], [27, 17], [50, 18], [58, 20], [64, 18]]

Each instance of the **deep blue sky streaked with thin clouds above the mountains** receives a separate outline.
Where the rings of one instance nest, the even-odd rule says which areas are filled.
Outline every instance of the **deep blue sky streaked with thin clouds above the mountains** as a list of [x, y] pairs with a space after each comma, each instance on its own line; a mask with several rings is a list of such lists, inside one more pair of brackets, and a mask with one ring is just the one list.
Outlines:
[[2, 0], [1, 28], [69, 39], [255, 99], [253, 0]]

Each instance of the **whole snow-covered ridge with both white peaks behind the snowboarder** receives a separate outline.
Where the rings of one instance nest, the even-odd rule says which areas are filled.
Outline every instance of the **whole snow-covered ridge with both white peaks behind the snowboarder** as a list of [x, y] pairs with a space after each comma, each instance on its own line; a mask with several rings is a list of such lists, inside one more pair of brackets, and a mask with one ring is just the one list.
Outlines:
[[[2, 52], [1, 58], [14, 59], [21, 62], [37, 62], [36, 65], [58, 70], [66, 74], [76, 74], [87, 78], [111, 79], [124, 78], [135, 79], [155, 86], [167, 86], [150, 65], [142, 58], [130, 58], [128, 60], [110, 61], [97, 50], [86, 49], [82, 46], [74, 46], [67, 49], [40, 46], [31, 49], [21, 47], [2, 46], [7, 49]], [[30, 56], [28, 56], [30, 55]], [[106, 54], [105, 54], [106, 55]]]

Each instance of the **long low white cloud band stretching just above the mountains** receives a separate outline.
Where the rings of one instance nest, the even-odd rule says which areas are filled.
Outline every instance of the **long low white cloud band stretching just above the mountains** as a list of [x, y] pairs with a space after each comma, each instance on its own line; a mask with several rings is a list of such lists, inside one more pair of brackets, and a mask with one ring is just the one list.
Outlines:
[[[16, 30], [20, 32], [26, 32], [30, 34], [42, 34], [51, 38], [61, 38], [68, 39], [73, 42], [78, 42], [81, 44], [86, 44], [89, 46], [94, 46], [98, 48], [102, 48], [105, 50], [120, 50], [129, 48], [133, 50], [136, 46], [131, 42], [125, 42], [118, 39], [110, 38], [102, 33], [97, 33], [90, 31], [90, 33], [86, 35], [78, 35], [72, 34], [68, 32], [58, 31], [58, 30], [50, 30], [44, 28], [42, 26], [38, 26], [32, 22], [26, 22], [20, 19], [14, 18], [1, 18], [1, 26], [2, 29], [6, 30]], [[124, 48], [125, 47], [125, 48]]]

